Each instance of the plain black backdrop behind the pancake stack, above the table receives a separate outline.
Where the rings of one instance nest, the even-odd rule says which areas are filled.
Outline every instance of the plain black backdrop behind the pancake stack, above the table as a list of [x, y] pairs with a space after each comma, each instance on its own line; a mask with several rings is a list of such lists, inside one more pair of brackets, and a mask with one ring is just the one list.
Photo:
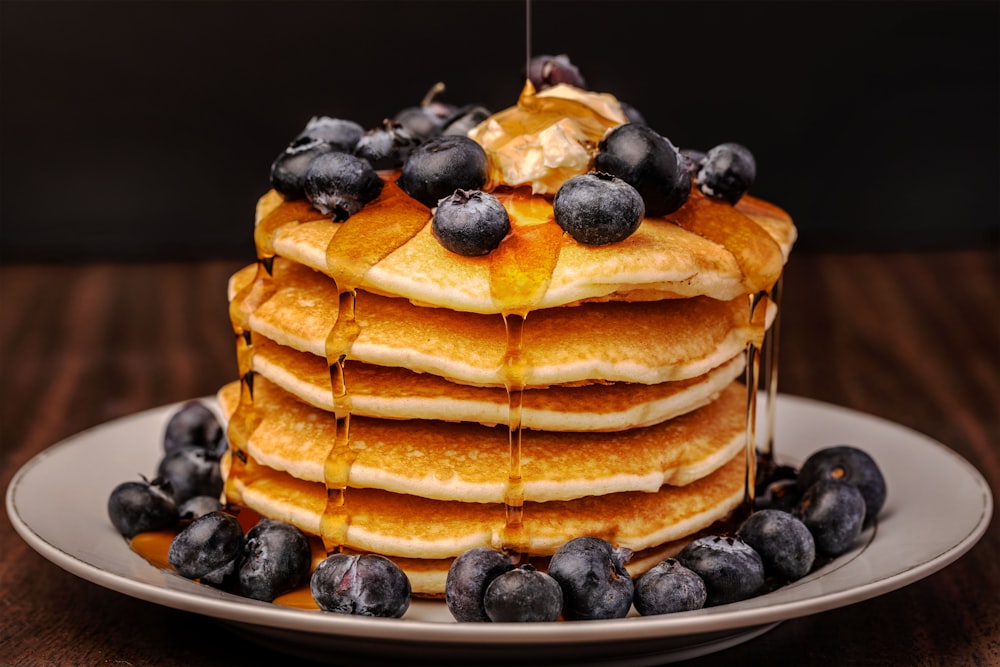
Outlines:
[[[1000, 240], [1000, 3], [532, 3], [680, 147], [739, 141], [800, 251]], [[251, 257], [313, 115], [514, 103], [523, 2], [0, 2], [0, 260]]]

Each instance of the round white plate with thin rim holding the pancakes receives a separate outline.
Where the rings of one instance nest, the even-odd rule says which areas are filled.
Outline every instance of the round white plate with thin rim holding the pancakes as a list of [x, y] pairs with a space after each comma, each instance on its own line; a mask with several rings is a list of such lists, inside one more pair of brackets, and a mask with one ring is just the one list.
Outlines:
[[226, 621], [255, 642], [309, 658], [372, 665], [414, 656], [441, 663], [652, 665], [721, 650], [775, 624], [875, 597], [968, 551], [990, 521], [982, 475], [944, 445], [869, 415], [780, 396], [779, 460], [852, 444], [875, 458], [888, 500], [850, 553], [795, 584], [730, 605], [670, 616], [539, 624], [457, 624], [443, 603], [415, 601], [403, 619], [283, 608], [217, 591], [149, 565], [107, 518], [118, 483], [151, 475], [164, 406], [90, 429], [41, 452], [14, 476], [7, 511], [44, 557], [107, 588]]

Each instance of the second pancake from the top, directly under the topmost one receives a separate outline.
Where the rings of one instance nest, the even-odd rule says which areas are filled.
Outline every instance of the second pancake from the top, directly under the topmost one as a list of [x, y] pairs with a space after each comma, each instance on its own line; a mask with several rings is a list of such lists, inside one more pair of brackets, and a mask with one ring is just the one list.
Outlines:
[[[256, 267], [235, 274], [230, 297]], [[276, 258], [273, 294], [256, 304], [249, 328], [282, 345], [326, 356], [338, 290], [324, 275]], [[414, 306], [359, 292], [360, 334], [350, 358], [431, 373], [454, 382], [503, 386], [507, 332], [499, 315]], [[528, 386], [588, 381], [655, 384], [703, 375], [740, 354], [754, 336], [746, 298], [708, 297], [585, 303], [532, 312], [524, 328]]]

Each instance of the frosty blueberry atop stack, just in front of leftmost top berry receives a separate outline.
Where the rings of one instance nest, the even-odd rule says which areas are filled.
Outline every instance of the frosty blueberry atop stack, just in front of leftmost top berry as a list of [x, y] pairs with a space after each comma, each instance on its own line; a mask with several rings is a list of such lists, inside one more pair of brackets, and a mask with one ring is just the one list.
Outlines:
[[382, 179], [361, 158], [324, 153], [306, 170], [305, 193], [313, 208], [343, 222], [382, 193]]

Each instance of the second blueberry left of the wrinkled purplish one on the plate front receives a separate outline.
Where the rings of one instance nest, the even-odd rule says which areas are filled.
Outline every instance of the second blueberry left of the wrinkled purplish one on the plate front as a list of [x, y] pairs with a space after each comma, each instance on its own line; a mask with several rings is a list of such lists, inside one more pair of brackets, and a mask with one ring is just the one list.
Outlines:
[[211, 512], [177, 533], [167, 561], [177, 573], [198, 579], [229, 568], [243, 553], [243, 529], [236, 517]]

